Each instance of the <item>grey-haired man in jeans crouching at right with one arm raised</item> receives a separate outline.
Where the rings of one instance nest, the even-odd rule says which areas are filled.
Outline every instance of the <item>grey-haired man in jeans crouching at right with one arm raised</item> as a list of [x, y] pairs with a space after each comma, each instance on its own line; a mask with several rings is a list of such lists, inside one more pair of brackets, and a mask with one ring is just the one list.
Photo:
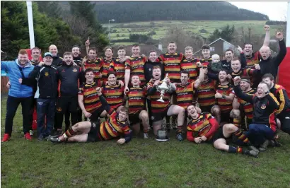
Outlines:
[[243, 93], [238, 83], [240, 83], [240, 77], [237, 76], [234, 79], [233, 88], [237, 97], [253, 104], [253, 121], [249, 126], [248, 138], [253, 146], [260, 147], [260, 151], [265, 151], [269, 140], [274, 139], [277, 131], [275, 113], [279, 108], [279, 102], [269, 92], [269, 86], [265, 82], [259, 84], [257, 94], [254, 96]]

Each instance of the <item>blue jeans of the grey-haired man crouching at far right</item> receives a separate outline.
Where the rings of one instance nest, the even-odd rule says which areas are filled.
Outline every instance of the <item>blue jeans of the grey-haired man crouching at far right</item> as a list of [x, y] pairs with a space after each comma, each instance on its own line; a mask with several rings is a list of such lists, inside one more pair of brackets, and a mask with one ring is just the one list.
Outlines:
[[265, 140], [274, 138], [274, 131], [265, 124], [250, 124], [248, 131], [248, 139], [253, 146], [260, 146]]

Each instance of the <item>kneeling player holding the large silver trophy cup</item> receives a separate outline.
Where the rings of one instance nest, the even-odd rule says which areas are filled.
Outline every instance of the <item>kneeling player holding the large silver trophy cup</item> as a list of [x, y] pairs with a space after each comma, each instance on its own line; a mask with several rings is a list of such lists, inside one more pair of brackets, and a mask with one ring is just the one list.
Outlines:
[[153, 66], [153, 79], [147, 83], [147, 95], [151, 98], [151, 109], [153, 122], [153, 131], [157, 135], [157, 131], [161, 129], [163, 117], [178, 115], [178, 130], [176, 139], [183, 140], [182, 126], [185, 119], [185, 109], [178, 105], [170, 105], [170, 95], [176, 89], [173, 83], [166, 75], [161, 81], [161, 67]]

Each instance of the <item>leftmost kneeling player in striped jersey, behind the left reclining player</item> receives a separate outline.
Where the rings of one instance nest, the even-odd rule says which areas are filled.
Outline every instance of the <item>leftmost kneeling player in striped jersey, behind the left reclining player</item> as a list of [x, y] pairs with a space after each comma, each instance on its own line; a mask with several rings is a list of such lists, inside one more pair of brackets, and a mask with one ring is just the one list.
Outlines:
[[79, 107], [86, 118], [96, 122], [99, 117], [105, 117], [107, 112], [100, 102], [97, 88], [102, 86], [100, 80], [94, 81], [93, 69], [88, 68], [85, 71], [86, 83], [79, 87]]

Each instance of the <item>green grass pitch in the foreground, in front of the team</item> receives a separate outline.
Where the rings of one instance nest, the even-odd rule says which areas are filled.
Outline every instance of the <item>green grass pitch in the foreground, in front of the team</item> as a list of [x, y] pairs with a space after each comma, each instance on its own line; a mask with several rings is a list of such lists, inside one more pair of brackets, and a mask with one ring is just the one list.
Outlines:
[[[4, 134], [6, 97], [1, 98]], [[259, 158], [224, 153], [209, 144], [134, 138], [62, 143], [25, 141], [21, 107], [11, 141], [1, 143], [2, 187], [290, 187], [290, 136]]]

